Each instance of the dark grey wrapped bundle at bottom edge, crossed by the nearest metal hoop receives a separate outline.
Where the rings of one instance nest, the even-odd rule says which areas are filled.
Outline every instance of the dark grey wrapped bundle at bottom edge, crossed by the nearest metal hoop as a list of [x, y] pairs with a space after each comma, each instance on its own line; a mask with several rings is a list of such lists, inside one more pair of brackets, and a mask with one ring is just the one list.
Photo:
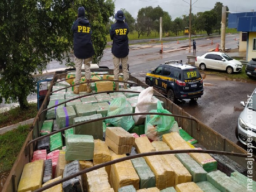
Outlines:
[[[69, 164], [65, 165], [64, 172], [63, 172], [63, 178], [68, 177], [69, 175], [75, 174], [79, 172], [80, 164], [79, 161], [72, 161]], [[68, 181], [64, 181], [62, 183], [63, 192], [83, 192], [83, 183], [81, 175], [70, 179]]]

